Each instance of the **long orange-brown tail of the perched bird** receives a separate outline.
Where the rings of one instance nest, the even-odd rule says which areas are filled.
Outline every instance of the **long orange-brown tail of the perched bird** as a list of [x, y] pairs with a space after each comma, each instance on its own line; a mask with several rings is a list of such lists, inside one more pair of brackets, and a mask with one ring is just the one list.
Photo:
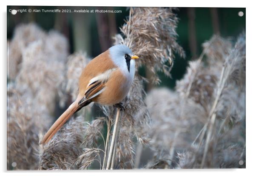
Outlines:
[[51, 137], [55, 135], [55, 133], [65, 124], [65, 122], [80, 108], [77, 100], [72, 103], [65, 112], [60, 115], [60, 117], [54, 122], [51, 128], [46, 132], [43, 139], [41, 140], [40, 144], [46, 144]]

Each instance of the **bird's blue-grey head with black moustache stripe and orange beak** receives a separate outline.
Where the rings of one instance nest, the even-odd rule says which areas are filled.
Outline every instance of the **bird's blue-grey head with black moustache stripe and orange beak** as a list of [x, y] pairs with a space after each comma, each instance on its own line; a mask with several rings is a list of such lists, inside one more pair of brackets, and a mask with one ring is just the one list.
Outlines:
[[124, 71], [134, 71], [135, 70], [135, 59], [139, 59], [137, 55], [131, 51], [130, 48], [123, 44], [114, 45], [109, 48], [110, 58], [113, 60], [119, 68]]

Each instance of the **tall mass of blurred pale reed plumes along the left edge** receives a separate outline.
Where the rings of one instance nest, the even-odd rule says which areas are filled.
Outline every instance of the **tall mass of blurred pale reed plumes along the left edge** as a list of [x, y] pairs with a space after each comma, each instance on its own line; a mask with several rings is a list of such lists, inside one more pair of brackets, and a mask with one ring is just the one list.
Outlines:
[[38, 141], [62, 94], [67, 54], [67, 40], [56, 31], [46, 33], [34, 24], [15, 29], [8, 58], [8, 165], [17, 166], [9, 169], [38, 168]]

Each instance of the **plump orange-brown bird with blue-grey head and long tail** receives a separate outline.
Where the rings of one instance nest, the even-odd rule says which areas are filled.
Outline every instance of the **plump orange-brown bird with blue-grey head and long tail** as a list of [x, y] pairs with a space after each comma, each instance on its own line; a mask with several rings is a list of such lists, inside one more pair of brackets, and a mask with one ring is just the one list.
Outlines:
[[41, 144], [51, 137], [75, 112], [91, 102], [103, 105], [118, 104], [127, 95], [134, 78], [135, 63], [131, 50], [124, 45], [115, 45], [91, 60], [79, 78], [77, 99], [54, 122]]

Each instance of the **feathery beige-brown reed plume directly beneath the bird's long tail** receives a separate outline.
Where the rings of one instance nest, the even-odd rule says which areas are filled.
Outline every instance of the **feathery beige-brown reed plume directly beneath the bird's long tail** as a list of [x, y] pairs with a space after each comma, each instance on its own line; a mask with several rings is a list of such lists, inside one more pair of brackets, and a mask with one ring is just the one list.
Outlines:
[[90, 124], [82, 116], [72, 118], [46, 146], [40, 148], [39, 169], [87, 169], [102, 151], [94, 147], [102, 137], [104, 121], [105, 118], [97, 118]]

